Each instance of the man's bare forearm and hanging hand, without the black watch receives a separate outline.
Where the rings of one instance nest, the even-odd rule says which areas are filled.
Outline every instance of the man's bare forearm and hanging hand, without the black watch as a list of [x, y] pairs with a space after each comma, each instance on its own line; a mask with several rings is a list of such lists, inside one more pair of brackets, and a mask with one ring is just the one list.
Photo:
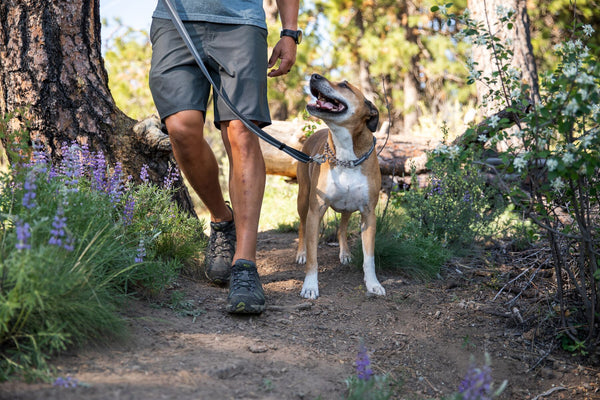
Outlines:
[[[282, 29], [298, 29], [298, 9], [299, 0], [277, 0], [277, 9], [279, 10], [279, 18], [281, 19]], [[279, 68], [273, 69], [268, 76], [271, 78], [285, 75], [290, 72], [292, 66], [296, 62], [296, 42], [289, 36], [283, 36], [273, 48], [271, 58], [269, 58], [268, 67], [275, 66], [277, 60], [281, 60]]]

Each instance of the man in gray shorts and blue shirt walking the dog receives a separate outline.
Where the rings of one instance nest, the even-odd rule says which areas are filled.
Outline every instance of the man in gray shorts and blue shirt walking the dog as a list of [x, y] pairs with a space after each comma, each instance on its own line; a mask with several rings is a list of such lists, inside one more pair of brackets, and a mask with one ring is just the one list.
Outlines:
[[[262, 0], [174, 1], [215, 83], [259, 126], [271, 123], [267, 70], [275, 67], [269, 77], [287, 74], [296, 60], [301, 37], [298, 3], [277, 0], [282, 34], [267, 58]], [[163, 0], [154, 11], [150, 39], [154, 102], [180, 169], [211, 215], [206, 275], [215, 283], [230, 281], [229, 312], [260, 313], [265, 298], [256, 271], [256, 241], [265, 165], [259, 139], [213, 93], [215, 124], [229, 158], [229, 207], [219, 186], [216, 158], [203, 135], [210, 84], [170, 21]]]

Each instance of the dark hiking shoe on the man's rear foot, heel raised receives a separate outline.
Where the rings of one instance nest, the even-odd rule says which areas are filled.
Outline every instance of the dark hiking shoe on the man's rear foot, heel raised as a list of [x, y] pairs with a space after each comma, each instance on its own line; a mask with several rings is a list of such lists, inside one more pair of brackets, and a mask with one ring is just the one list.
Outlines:
[[225, 284], [231, 273], [235, 253], [235, 222], [211, 222], [205, 255], [204, 273], [213, 283]]

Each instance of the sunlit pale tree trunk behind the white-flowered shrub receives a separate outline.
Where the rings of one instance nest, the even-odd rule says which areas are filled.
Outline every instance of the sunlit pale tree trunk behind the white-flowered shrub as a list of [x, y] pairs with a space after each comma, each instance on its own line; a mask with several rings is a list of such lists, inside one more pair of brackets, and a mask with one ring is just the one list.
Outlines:
[[[533, 57], [533, 48], [531, 46], [531, 36], [529, 32], [529, 16], [527, 15], [527, 4], [525, 0], [469, 0], [469, 10], [472, 12], [473, 19], [481, 21], [485, 29], [491, 30], [491, 33], [506, 43], [507, 39], [512, 41], [510, 49], [513, 51], [512, 66], [520, 69], [523, 73], [522, 79], [530, 86], [530, 98], [532, 103], [540, 101], [537, 67]], [[514, 28], [506, 29], [499, 25], [497, 10], [499, 8], [515, 10]], [[473, 60], [477, 62], [477, 69], [482, 71], [482, 76], [491, 77], [494, 71], [498, 71], [497, 60], [494, 57], [492, 49], [485, 46], [473, 46]], [[499, 82], [498, 82], [499, 83]], [[479, 103], [483, 104], [483, 97], [490, 89], [501, 89], [488, 87], [477, 82], [477, 96]], [[482, 110], [484, 115], [491, 115], [498, 109], [506, 105], [488, 103]]]

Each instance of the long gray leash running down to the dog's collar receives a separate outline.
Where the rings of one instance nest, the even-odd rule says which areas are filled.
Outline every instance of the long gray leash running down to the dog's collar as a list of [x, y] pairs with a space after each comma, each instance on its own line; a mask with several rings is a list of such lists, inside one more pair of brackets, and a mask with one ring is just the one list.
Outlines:
[[181, 36], [181, 39], [183, 40], [183, 42], [185, 43], [185, 45], [187, 46], [189, 51], [192, 53], [192, 56], [196, 60], [196, 63], [202, 70], [202, 73], [204, 74], [204, 76], [206, 77], [208, 82], [213, 87], [213, 90], [219, 96], [221, 96], [221, 99], [223, 100], [225, 105], [231, 110], [231, 112], [234, 113], [235, 116], [238, 117], [240, 119], [240, 121], [242, 121], [242, 123], [250, 131], [252, 131], [256, 136], [258, 136], [265, 142], [269, 143], [270, 145], [277, 147], [279, 150], [283, 151], [284, 153], [288, 154], [289, 156], [295, 158], [296, 160], [298, 160], [300, 162], [303, 162], [303, 163], [316, 162], [308, 154], [303, 153], [300, 150], [294, 149], [293, 147], [290, 147], [290, 146], [286, 145], [285, 143], [282, 143], [279, 140], [275, 139], [273, 136], [269, 135], [267, 132], [260, 129], [254, 123], [252, 123], [252, 121], [250, 121], [248, 118], [246, 118], [244, 115], [242, 115], [235, 108], [233, 103], [229, 100], [229, 97], [227, 97], [227, 95], [217, 87], [217, 85], [213, 81], [212, 77], [208, 73], [206, 66], [202, 62], [202, 57], [200, 56], [200, 53], [198, 53], [198, 49], [196, 49], [196, 46], [194, 46], [194, 42], [192, 41], [192, 38], [190, 37], [188, 31], [185, 29], [185, 26], [183, 25], [183, 22], [181, 21], [179, 14], [177, 14], [177, 10], [175, 9], [175, 7], [173, 7], [173, 3], [171, 2], [171, 0], [163, 0], [163, 2], [167, 6], [167, 10], [169, 11], [169, 14], [171, 15], [171, 21], [173, 21], [173, 24], [175, 25], [175, 28], [177, 29], [179, 36]]

